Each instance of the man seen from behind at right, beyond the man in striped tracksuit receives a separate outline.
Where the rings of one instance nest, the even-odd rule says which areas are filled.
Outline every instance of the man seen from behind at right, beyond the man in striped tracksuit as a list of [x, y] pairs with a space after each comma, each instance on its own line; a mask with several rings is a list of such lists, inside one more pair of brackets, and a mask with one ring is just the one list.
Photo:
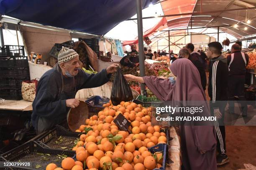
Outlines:
[[244, 93], [246, 66], [249, 61], [248, 54], [241, 53], [241, 46], [233, 44], [231, 53], [227, 56], [228, 61], [228, 84], [229, 84], [229, 113], [234, 114], [234, 96], [238, 96], [241, 102], [242, 115], [247, 116], [247, 104]]

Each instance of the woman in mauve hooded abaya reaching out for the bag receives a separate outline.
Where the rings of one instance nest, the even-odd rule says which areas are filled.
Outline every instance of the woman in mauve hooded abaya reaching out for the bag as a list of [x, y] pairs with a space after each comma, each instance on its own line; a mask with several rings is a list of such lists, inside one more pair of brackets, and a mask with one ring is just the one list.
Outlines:
[[[206, 101], [200, 74], [194, 64], [186, 58], [178, 59], [170, 66], [176, 82], [155, 76], [136, 77], [125, 75], [125, 79], [145, 83], [162, 101]], [[209, 112], [204, 113], [210, 116]], [[182, 170], [217, 170], [216, 136], [213, 126], [180, 125]]]

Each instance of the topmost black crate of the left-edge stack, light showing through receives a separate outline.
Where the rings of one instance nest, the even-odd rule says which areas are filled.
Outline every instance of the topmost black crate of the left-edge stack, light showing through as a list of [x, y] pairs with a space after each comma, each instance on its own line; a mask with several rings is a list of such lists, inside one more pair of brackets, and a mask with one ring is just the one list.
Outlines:
[[5, 45], [0, 48], [0, 56], [25, 56], [24, 46]]

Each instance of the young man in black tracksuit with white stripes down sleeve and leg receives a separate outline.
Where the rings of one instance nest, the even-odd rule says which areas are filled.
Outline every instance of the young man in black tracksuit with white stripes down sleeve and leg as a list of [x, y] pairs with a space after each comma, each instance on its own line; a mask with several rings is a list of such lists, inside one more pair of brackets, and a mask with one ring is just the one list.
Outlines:
[[224, 113], [228, 100], [228, 65], [227, 59], [221, 55], [221, 44], [211, 42], [208, 44], [207, 57], [211, 59], [209, 69], [208, 94], [210, 96], [210, 111], [218, 119], [215, 122], [217, 133], [217, 165], [229, 162], [226, 155]]

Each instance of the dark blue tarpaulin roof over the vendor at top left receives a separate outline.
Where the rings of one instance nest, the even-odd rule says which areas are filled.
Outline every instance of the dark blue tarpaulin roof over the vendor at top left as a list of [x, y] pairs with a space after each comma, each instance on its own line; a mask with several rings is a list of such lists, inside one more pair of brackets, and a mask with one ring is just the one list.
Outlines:
[[[142, 8], [158, 0], [142, 0]], [[42, 25], [104, 35], [136, 14], [134, 0], [0, 0], [0, 14]]]

